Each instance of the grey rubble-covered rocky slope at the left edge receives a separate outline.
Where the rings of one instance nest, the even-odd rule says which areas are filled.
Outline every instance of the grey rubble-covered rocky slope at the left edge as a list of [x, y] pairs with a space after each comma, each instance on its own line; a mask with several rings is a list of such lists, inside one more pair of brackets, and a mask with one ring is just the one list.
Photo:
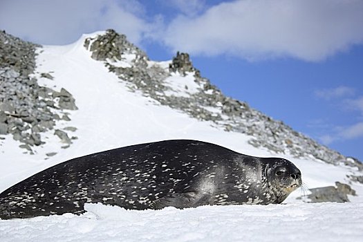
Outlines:
[[[11, 134], [32, 153], [44, 144], [41, 133], [54, 129], [57, 120], [70, 120], [66, 110], [75, 110], [75, 99], [66, 91], [39, 86], [35, 77], [36, 49], [41, 46], [0, 31], [0, 135]], [[40, 77], [53, 79], [50, 73]], [[66, 131], [55, 130], [65, 144], [71, 144]], [[1, 136], [0, 136], [1, 138]]]

